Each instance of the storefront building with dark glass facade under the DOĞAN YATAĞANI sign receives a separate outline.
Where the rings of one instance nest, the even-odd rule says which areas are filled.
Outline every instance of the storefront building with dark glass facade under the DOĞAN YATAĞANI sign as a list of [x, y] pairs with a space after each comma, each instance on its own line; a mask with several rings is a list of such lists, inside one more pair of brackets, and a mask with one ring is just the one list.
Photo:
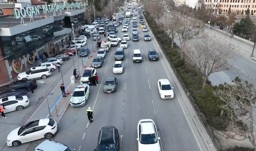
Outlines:
[[0, 3], [4, 13], [0, 16], [0, 86], [12, 83], [19, 73], [36, 66], [45, 53], [50, 57], [70, 44], [72, 23], [76, 34], [84, 23], [85, 6], [77, 3], [69, 8], [63, 3], [63, 9], [53, 4], [48, 12], [45, 4]]

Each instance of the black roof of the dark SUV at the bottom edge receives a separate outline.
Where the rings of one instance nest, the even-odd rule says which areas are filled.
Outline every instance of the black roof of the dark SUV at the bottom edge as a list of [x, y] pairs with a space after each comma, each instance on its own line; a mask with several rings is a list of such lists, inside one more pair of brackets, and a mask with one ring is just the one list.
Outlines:
[[101, 129], [100, 144], [114, 144], [114, 126], [104, 126]]

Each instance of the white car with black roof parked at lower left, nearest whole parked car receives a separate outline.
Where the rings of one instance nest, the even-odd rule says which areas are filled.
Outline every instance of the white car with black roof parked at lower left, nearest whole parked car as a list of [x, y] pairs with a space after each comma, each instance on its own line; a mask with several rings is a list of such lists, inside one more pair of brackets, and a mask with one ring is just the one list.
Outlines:
[[53, 119], [31, 121], [11, 131], [6, 142], [8, 146], [19, 146], [40, 138], [51, 138], [57, 132], [57, 127], [57, 123]]

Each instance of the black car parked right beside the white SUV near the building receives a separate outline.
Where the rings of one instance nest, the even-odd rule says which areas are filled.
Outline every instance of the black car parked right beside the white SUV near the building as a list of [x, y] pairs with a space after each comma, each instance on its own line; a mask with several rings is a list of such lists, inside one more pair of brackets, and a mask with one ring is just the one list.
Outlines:
[[18, 80], [9, 89], [27, 89], [29, 92], [37, 88], [36, 80]]

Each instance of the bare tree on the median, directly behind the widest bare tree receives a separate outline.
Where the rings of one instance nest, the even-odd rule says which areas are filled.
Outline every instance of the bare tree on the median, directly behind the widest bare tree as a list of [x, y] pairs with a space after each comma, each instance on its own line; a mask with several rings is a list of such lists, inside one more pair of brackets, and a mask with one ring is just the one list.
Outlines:
[[183, 60], [186, 42], [203, 32], [203, 23], [200, 20], [184, 18], [181, 15], [173, 17], [173, 23], [176, 25], [173, 30], [180, 41], [181, 60]]

